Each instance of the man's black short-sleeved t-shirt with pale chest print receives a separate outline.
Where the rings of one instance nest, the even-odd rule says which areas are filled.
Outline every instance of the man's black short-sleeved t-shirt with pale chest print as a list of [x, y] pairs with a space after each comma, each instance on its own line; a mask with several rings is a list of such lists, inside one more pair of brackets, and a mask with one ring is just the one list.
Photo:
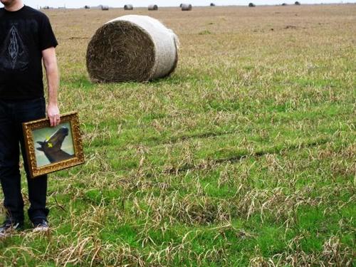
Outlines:
[[0, 99], [43, 97], [42, 51], [57, 46], [48, 17], [23, 6], [0, 9]]

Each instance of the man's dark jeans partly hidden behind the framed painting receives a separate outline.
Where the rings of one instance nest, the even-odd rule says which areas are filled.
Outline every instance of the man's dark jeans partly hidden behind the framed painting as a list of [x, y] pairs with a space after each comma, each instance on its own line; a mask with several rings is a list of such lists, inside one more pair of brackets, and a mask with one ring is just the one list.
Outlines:
[[36, 221], [46, 219], [48, 215], [47, 176], [30, 177], [21, 125], [22, 122], [43, 117], [46, 117], [44, 98], [25, 101], [0, 100], [0, 180], [4, 192], [6, 216], [14, 221], [23, 221], [19, 144], [27, 176], [28, 198], [31, 203], [28, 216], [31, 221]]

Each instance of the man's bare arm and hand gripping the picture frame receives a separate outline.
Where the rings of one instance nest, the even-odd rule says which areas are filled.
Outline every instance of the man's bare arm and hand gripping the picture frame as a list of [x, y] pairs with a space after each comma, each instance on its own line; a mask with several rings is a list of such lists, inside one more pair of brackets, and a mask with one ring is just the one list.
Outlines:
[[57, 91], [59, 87], [59, 73], [56, 58], [56, 49], [47, 48], [42, 51], [43, 65], [46, 68], [46, 78], [48, 85], [48, 105], [47, 115], [51, 126], [58, 125], [61, 120], [59, 117], [59, 108], [57, 103]]

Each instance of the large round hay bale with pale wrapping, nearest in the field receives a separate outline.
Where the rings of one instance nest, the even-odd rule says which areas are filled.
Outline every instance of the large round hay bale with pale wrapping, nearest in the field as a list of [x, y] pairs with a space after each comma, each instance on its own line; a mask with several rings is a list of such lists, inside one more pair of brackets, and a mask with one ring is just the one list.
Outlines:
[[117, 83], [163, 78], [177, 66], [179, 40], [150, 16], [108, 21], [90, 40], [86, 63], [93, 82]]

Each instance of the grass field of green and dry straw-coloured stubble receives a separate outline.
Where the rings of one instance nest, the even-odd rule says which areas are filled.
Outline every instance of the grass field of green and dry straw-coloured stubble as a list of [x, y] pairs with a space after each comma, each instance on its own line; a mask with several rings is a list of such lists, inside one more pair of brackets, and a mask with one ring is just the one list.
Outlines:
[[46, 11], [86, 162], [0, 266], [355, 265], [356, 5], [135, 9], [177, 33], [177, 70], [90, 83], [90, 37], [127, 13]]

